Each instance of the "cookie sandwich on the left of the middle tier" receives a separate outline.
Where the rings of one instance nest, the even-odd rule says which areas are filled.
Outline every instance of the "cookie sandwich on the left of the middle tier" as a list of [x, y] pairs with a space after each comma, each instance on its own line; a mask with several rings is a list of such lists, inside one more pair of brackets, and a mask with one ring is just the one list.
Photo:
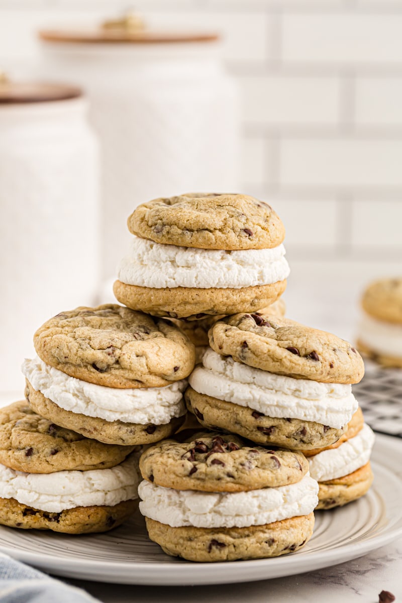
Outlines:
[[27, 396], [56, 425], [107, 444], [148, 444], [183, 423], [185, 378], [195, 364], [186, 335], [118, 305], [77, 308], [34, 335]]

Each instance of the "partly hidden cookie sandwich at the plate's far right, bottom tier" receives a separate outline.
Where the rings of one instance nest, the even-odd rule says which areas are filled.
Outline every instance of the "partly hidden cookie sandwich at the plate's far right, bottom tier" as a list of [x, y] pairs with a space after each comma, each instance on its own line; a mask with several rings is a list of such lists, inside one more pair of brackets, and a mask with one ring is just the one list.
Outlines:
[[373, 444], [374, 432], [359, 408], [336, 444], [304, 451], [310, 475], [319, 485], [318, 509], [342, 507], [366, 494], [373, 480], [369, 462]]

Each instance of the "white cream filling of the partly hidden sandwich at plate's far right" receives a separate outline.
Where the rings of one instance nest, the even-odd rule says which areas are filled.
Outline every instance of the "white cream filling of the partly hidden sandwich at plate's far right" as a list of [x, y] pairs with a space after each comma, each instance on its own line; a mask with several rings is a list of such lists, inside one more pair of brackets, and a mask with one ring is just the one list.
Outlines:
[[370, 459], [374, 438], [372, 429], [363, 425], [354, 438], [345, 441], [338, 448], [309, 456], [310, 475], [317, 481], [324, 482], [327, 479], [342, 478], [360, 469]]

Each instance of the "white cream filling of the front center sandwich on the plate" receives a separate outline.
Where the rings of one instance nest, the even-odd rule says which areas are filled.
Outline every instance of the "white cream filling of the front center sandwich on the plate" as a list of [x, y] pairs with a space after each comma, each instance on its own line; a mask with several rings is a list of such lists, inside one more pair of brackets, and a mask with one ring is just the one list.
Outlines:
[[297, 484], [248, 492], [173, 490], [142, 481], [140, 511], [172, 528], [245, 528], [308, 515], [318, 504], [318, 484], [307, 473]]

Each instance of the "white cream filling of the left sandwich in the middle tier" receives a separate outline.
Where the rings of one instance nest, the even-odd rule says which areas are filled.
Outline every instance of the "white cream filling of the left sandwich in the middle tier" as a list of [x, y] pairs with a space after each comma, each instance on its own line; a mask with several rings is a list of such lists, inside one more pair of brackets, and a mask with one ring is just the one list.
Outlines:
[[32, 387], [66, 411], [146, 425], [165, 425], [184, 414], [186, 380], [166, 387], [123, 390], [75, 379], [45, 364], [40, 358], [25, 359], [22, 372]]

